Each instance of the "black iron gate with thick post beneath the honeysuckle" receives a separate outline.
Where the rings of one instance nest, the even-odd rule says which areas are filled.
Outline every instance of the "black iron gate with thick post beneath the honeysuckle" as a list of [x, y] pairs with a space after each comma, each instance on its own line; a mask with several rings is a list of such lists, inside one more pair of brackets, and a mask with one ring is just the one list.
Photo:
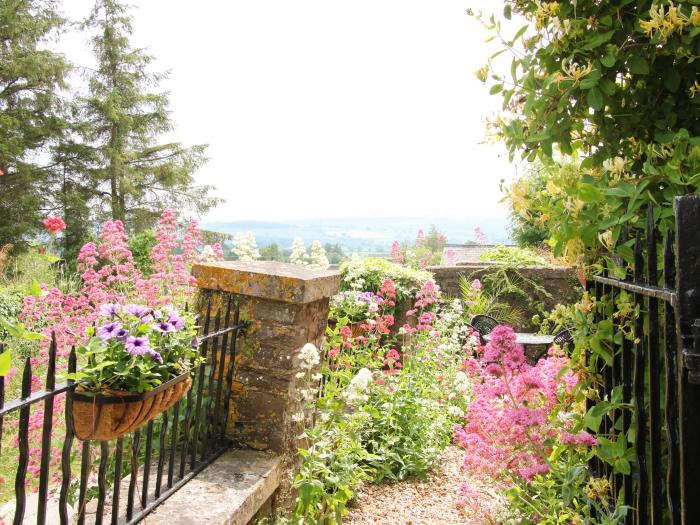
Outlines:
[[[591, 283], [597, 303], [612, 305], [596, 314], [613, 331], [610, 359], [596, 361], [600, 396], [617, 392], [622, 401], [601, 434], [629, 436], [636, 455], [628, 475], [598, 460], [592, 468], [631, 508], [627, 524], [700, 523], [700, 197], [678, 197], [674, 207], [675, 235], [656, 231], [650, 208], [629, 241], [632, 274], [615, 278], [606, 269]], [[639, 312], [629, 327], [623, 293]]]

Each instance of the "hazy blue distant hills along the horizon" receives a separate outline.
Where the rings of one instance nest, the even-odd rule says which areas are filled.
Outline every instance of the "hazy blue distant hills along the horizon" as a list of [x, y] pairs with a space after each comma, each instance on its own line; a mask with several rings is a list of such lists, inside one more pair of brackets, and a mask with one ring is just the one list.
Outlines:
[[411, 242], [419, 229], [427, 232], [434, 224], [447, 236], [450, 243], [464, 243], [474, 239], [477, 226], [489, 243], [507, 243], [508, 219], [435, 217], [345, 217], [315, 218], [293, 221], [235, 221], [210, 222], [202, 228], [221, 233], [253, 232], [258, 246], [277, 243], [281, 249], [290, 248], [292, 239], [299, 236], [307, 245], [313, 240], [340, 244], [349, 251], [360, 253], [387, 253], [394, 240]]

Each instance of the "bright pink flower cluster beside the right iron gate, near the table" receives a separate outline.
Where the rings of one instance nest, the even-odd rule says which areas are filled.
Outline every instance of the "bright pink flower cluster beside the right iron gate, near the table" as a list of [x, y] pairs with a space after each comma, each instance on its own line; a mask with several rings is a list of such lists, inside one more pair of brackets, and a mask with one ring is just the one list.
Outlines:
[[465, 363], [473, 399], [466, 423], [454, 427], [455, 442], [466, 450], [465, 469], [496, 480], [510, 472], [527, 481], [548, 471], [554, 440], [595, 445], [588, 434], [562, 433], [564, 423], [556, 418], [562, 398], [577, 383], [566, 366], [559, 355], [531, 366], [512, 328], [493, 330], [483, 353]]

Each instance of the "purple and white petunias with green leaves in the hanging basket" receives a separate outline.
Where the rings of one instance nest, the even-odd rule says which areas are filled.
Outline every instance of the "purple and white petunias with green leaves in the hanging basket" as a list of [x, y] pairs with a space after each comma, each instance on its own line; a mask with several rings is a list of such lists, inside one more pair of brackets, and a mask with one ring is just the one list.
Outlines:
[[202, 361], [195, 317], [169, 306], [102, 304], [88, 335], [86, 364], [68, 377], [91, 392], [146, 392]]

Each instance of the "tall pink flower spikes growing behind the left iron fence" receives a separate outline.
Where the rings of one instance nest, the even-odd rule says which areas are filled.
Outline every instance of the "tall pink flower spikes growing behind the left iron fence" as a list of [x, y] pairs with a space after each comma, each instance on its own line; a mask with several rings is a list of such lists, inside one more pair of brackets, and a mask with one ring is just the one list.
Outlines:
[[[65, 227], [63, 221], [57, 221], [47, 225], [47, 229], [58, 229], [61, 224]], [[41, 297], [25, 297], [19, 318], [30, 329], [47, 336], [42, 340], [38, 357], [32, 359], [34, 370], [48, 361], [52, 333], [57, 343], [57, 368], [59, 371], [65, 370], [71, 347], [84, 342], [86, 329], [99, 316], [99, 305], [135, 302], [152, 306], [171, 303], [184, 306], [195, 292], [195, 280], [189, 273], [189, 267], [196, 260], [201, 235], [194, 221], [187, 224], [182, 237], [178, 230], [175, 214], [170, 210], [163, 212], [158, 221], [158, 242], [151, 252], [153, 273], [143, 278], [129, 250], [124, 224], [118, 220], [107, 221], [98, 241], [85, 244], [78, 255], [77, 268], [82, 280], [80, 291], [64, 293], [42, 284]], [[218, 254], [219, 260], [223, 259], [220, 245], [214, 247], [214, 253]], [[9, 379], [6, 378], [6, 381], [9, 382]], [[40, 388], [43, 388], [43, 381], [34, 375], [32, 390]], [[63, 403], [63, 396], [56, 397], [54, 414], [61, 413]], [[43, 409], [37, 407], [30, 419], [32, 446], [38, 446], [41, 441], [42, 420]], [[59, 421], [54, 422], [53, 432], [63, 434], [64, 429]], [[54, 457], [60, 458], [60, 454]], [[38, 475], [38, 461], [39, 454], [30, 455], [30, 477]]]

